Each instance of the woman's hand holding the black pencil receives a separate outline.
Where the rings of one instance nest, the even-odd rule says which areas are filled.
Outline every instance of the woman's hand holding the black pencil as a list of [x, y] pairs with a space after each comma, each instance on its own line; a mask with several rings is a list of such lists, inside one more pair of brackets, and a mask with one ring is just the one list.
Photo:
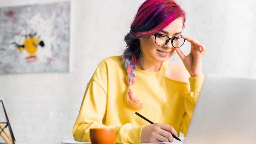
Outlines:
[[142, 128], [140, 140], [141, 143], [172, 142], [172, 134], [178, 137], [177, 132], [172, 126], [154, 123]]

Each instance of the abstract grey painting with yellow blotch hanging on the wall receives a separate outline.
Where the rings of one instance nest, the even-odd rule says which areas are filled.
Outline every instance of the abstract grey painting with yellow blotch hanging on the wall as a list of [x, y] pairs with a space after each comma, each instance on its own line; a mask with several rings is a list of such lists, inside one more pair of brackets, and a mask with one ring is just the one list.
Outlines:
[[68, 72], [70, 1], [0, 8], [0, 74]]

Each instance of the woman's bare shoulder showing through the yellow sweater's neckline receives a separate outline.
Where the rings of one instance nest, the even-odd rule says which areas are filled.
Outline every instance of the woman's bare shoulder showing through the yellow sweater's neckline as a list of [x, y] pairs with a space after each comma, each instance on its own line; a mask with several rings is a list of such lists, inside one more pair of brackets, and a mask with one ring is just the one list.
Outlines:
[[168, 62], [165, 76], [170, 79], [186, 83], [189, 83], [188, 78], [190, 77], [188, 71], [182, 63], [172, 61]]

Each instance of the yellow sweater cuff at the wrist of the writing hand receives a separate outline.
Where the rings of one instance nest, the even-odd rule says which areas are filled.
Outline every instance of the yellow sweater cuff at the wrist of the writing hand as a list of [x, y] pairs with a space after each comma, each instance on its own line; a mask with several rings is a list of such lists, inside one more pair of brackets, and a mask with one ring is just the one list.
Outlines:
[[140, 136], [141, 130], [144, 126], [132, 127], [126, 130], [126, 135], [128, 136], [126, 141], [129, 143], [141, 143]]

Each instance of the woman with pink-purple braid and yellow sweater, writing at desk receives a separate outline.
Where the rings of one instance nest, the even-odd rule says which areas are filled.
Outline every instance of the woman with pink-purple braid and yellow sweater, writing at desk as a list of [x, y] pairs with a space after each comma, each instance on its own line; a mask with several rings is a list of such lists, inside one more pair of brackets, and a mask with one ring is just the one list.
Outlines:
[[[87, 85], [75, 140], [90, 141], [94, 127], [116, 128], [115, 143], [172, 142], [171, 134], [186, 135], [204, 80], [206, 48], [181, 35], [185, 19], [174, 0], [146, 0], [140, 6], [123, 55], [102, 60]], [[187, 56], [179, 48], [185, 40], [191, 43]], [[168, 61], [175, 51], [184, 65]]]

